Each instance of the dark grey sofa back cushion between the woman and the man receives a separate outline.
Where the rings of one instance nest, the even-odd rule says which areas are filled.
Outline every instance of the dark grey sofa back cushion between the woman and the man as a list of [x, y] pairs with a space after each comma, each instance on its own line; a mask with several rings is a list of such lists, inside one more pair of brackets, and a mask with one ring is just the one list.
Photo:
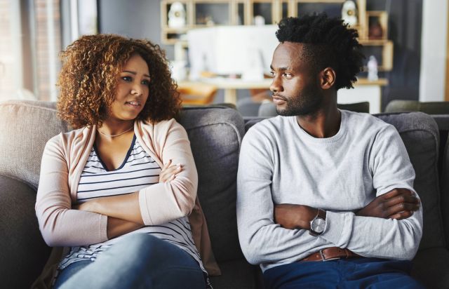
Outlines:
[[198, 196], [217, 261], [243, 258], [237, 236], [236, 177], [243, 119], [227, 107], [189, 107], [184, 126], [198, 170]]

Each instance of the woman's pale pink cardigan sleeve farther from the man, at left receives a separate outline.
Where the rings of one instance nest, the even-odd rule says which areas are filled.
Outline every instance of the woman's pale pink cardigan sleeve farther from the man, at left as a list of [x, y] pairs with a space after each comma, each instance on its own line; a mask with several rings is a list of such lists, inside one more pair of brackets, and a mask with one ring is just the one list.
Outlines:
[[61, 135], [43, 151], [36, 216], [48, 246], [83, 246], [107, 240], [107, 216], [72, 210], [68, 169]]

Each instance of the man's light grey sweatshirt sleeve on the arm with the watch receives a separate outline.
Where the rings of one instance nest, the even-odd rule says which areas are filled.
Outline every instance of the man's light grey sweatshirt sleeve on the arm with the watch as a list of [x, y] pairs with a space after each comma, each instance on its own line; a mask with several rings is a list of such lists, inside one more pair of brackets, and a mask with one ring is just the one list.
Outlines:
[[[417, 196], [413, 189], [415, 171], [406, 147], [393, 126], [386, 126], [377, 133], [369, 163], [376, 196], [398, 188], [409, 189]], [[370, 201], [366, 200], [365, 206]], [[326, 229], [320, 237], [365, 257], [411, 260], [422, 237], [422, 206], [404, 220], [328, 211]]]

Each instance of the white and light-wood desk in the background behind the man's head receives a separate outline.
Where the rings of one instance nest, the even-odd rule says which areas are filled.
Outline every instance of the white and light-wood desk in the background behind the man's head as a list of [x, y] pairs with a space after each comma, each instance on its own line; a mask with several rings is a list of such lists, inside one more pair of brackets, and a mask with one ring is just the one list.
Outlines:
[[[242, 79], [201, 79], [200, 81], [180, 81], [179, 86], [192, 86], [195, 83], [210, 83], [219, 89], [225, 90], [225, 102], [236, 104], [237, 89], [266, 88], [272, 84], [272, 79], [261, 81], [244, 81]], [[354, 89], [339, 89], [337, 91], [338, 103], [370, 102], [370, 114], [377, 114], [381, 111], [382, 86], [388, 85], [388, 79], [368, 81], [368, 79], [358, 79]]]

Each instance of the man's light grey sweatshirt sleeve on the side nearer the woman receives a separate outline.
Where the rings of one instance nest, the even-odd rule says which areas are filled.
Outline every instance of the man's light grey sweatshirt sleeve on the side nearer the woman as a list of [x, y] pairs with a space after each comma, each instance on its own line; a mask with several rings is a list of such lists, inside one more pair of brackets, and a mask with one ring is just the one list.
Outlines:
[[[266, 132], [265, 132], [266, 133]], [[303, 229], [274, 222], [272, 177], [276, 148], [256, 127], [243, 137], [237, 175], [237, 225], [243, 254], [251, 264], [295, 262], [333, 246]]]

